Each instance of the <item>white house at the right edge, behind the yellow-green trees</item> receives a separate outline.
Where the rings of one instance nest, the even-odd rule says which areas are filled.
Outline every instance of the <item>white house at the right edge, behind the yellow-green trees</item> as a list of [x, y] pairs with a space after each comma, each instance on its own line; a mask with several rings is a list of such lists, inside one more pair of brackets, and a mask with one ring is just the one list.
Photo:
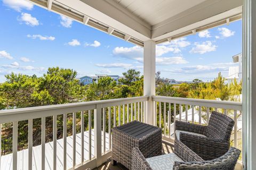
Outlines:
[[232, 83], [235, 79], [240, 82], [242, 80], [242, 53], [234, 55], [233, 63], [238, 63], [238, 66], [231, 66], [228, 70], [227, 83]]

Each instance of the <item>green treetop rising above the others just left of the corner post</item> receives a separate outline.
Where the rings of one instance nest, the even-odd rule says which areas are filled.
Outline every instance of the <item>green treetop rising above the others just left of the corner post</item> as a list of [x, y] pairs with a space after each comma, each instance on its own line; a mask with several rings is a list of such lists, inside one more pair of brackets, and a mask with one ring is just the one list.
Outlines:
[[127, 70], [127, 72], [123, 73], [124, 78], [119, 79], [119, 82], [131, 86], [133, 82], [138, 81], [140, 79], [140, 72], [135, 69]]

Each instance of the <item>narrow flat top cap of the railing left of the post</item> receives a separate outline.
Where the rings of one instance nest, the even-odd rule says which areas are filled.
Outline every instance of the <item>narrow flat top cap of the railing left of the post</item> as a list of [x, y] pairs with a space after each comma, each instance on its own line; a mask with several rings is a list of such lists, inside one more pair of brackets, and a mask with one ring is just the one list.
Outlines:
[[29, 113], [29, 112], [41, 112], [41, 111], [54, 111], [58, 109], [65, 108], [76, 108], [97, 104], [108, 104], [108, 103], [118, 103], [118, 102], [127, 102], [134, 100], [147, 100], [148, 96], [140, 97], [130, 97], [130, 98], [118, 98], [118, 99], [108, 99], [108, 100], [97, 100], [97, 101], [85, 101], [78, 103], [68, 103], [68, 104], [59, 104], [59, 105], [49, 105], [49, 106], [36, 106], [36, 107], [26, 107], [26, 108], [15, 108], [15, 109], [6, 109], [0, 111], [0, 117], [4, 115], [19, 114], [19, 113]]

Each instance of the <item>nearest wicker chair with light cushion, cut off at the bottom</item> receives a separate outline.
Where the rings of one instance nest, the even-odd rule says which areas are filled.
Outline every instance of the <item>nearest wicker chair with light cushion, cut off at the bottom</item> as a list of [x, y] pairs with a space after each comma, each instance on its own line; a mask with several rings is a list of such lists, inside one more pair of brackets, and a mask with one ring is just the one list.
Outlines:
[[[234, 170], [241, 151], [231, 147], [228, 152], [213, 160], [203, 160], [180, 141], [175, 141], [174, 153], [145, 158], [138, 147], [133, 148], [132, 170], [212, 169]], [[177, 159], [179, 161], [177, 161]]]

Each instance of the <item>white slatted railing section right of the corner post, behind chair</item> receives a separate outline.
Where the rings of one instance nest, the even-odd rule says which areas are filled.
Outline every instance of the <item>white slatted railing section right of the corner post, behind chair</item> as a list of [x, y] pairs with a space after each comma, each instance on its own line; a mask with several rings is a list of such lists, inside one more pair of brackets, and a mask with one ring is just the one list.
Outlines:
[[[177, 97], [153, 96], [154, 125], [163, 128], [163, 139], [173, 142], [175, 120], [196, 124], [207, 124], [211, 111], [218, 111], [234, 119], [235, 125], [231, 140], [234, 147], [242, 142], [242, 103]], [[175, 113], [175, 116], [174, 116]]]

